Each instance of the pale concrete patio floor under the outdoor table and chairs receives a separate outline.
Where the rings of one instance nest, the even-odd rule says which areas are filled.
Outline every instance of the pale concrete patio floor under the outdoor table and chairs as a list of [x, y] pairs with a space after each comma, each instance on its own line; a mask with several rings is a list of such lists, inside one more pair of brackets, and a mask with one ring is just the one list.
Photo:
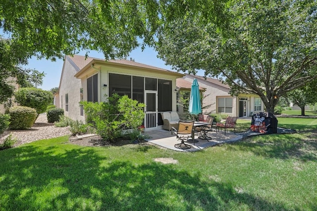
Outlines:
[[198, 150], [202, 150], [206, 147], [215, 146], [217, 144], [223, 144], [228, 142], [234, 142], [239, 141], [243, 138], [242, 134], [228, 131], [226, 132], [226, 135], [224, 135], [224, 131], [215, 132], [212, 131], [209, 133], [209, 136], [212, 137], [211, 140], [207, 141], [204, 139], [198, 138], [200, 136], [200, 133], [195, 133], [195, 140], [198, 140], [198, 142], [191, 143], [188, 141], [185, 141], [186, 144], [189, 144], [192, 146], [190, 149], [178, 149], [174, 147], [175, 144], [180, 143], [180, 141], [177, 140], [176, 135], [173, 133], [171, 134], [168, 130], [163, 129], [157, 129], [157, 130], [150, 130], [146, 131], [146, 134], [150, 135], [152, 138], [146, 139], [147, 141], [156, 144], [160, 147], [180, 151], [180, 152], [194, 152]]

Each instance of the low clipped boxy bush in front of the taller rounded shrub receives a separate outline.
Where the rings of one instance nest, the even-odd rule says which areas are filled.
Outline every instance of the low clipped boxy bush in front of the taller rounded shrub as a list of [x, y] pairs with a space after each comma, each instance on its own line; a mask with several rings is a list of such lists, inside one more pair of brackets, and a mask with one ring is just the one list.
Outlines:
[[28, 129], [34, 124], [37, 112], [33, 108], [25, 106], [15, 106], [9, 108], [7, 113], [10, 115], [10, 129]]

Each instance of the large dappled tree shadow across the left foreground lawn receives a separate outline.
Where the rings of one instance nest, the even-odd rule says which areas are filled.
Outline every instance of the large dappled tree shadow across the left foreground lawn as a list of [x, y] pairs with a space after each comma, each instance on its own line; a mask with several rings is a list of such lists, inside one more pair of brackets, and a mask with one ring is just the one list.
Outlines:
[[1, 209], [287, 210], [171, 165], [135, 165], [91, 148], [56, 148], [22, 146], [1, 152]]

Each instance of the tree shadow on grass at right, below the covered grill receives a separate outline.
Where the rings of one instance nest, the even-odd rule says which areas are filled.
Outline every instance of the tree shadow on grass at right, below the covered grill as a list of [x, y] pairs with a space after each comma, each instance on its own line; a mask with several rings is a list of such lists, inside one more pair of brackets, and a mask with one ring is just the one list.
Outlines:
[[317, 133], [258, 135], [231, 144], [228, 149], [251, 151], [269, 158], [317, 161]]

